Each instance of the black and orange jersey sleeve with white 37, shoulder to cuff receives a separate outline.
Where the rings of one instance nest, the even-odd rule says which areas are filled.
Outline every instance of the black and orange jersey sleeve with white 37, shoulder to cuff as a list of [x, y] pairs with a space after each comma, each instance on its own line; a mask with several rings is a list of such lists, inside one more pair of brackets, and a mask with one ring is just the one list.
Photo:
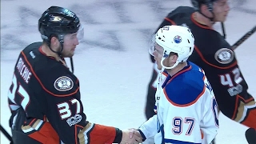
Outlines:
[[38, 76], [46, 98], [46, 118], [64, 143], [121, 142], [122, 131], [86, 121], [78, 78], [65, 66], [55, 66]]

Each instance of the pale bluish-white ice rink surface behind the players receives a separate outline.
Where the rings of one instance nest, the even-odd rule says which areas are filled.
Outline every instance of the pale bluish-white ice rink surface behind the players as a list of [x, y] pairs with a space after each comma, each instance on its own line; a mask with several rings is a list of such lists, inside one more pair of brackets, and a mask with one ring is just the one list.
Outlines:
[[[232, 45], [256, 24], [256, 1], [234, 0], [226, 21]], [[189, 0], [2, 0], [1, 1], [1, 125], [10, 133], [7, 91], [20, 50], [41, 41], [38, 18], [50, 6], [64, 6], [80, 17], [85, 40], [74, 56], [84, 112], [90, 122], [120, 129], [145, 122], [146, 88], [150, 81], [148, 42], [162, 19]], [[220, 30], [220, 26], [214, 26]], [[256, 34], [235, 50], [242, 74], [256, 95]], [[219, 117], [218, 144], [246, 144], [245, 126]], [[1, 134], [1, 144], [8, 140]]]

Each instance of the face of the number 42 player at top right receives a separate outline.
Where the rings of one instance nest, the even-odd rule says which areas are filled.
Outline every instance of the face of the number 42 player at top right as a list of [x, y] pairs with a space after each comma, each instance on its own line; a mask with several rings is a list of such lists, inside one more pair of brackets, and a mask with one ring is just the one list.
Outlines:
[[230, 11], [230, 6], [228, 0], [218, 0], [214, 2], [214, 21], [215, 22], [225, 22], [226, 16]]

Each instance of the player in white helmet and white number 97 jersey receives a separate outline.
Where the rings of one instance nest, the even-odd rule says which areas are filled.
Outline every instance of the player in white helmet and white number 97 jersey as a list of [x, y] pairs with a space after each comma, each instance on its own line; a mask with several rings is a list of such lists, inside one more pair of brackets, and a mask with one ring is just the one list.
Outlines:
[[194, 36], [184, 26], [164, 26], [155, 34], [151, 54], [157, 61], [157, 114], [138, 131], [156, 144], [210, 144], [218, 133], [218, 105], [203, 70], [187, 59]]

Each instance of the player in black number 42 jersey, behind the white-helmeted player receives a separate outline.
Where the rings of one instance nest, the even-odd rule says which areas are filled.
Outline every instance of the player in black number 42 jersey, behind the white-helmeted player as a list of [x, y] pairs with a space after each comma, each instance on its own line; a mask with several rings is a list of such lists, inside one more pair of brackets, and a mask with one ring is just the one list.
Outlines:
[[[194, 53], [189, 60], [201, 66], [214, 89], [218, 107], [226, 117], [256, 129], [256, 103], [238, 66], [234, 50], [225, 38], [213, 30], [215, 22], [225, 22], [230, 10], [227, 0], [191, 0], [194, 7], [180, 6], [164, 18], [162, 26], [188, 26], [195, 38]], [[157, 30], [158, 30], [157, 29]], [[154, 115], [155, 74], [150, 80], [146, 116]], [[153, 87], [153, 88], [152, 88]], [[150, 110], [148, 110], [150, 108]], [[247, 141], [256, 143], [256, 133], [247, 130]], [[250, 134], [248, 134], [250, 133]], [[254, 135], [252, 138], [249, 135]], [[248, 138], [250, 140], [248, 140]], [[252, 140], [253, 139], [253, 140]]]

